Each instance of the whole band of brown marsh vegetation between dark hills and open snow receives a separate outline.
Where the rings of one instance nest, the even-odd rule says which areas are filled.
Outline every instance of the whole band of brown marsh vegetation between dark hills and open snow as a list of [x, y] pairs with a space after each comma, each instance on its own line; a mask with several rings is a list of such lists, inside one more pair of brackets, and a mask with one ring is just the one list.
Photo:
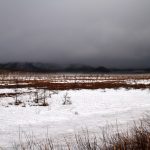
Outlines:
[[[105, 88], [150, 88], [150, 74], [102, 75], [102, 74], [8, 74], [0, 76], [0, 88], [46, 88], [49, 90], [105, 89]], [[131, 84], [127, 81], [132, 81]]]

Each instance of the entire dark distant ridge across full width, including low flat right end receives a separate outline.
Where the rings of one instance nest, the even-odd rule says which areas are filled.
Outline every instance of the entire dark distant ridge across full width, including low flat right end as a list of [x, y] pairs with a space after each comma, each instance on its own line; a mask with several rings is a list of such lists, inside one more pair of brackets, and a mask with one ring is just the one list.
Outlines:
[[145, 69], [110, 69], [103, 66], [92, 67], [88, 65], [71, 64], [61, 66], [50, 63], [1, 63], [0, 70], [5, 71], [23, 71], [23, 72], [70, 72], [70, 73], [150, 73], [150, 68]]

